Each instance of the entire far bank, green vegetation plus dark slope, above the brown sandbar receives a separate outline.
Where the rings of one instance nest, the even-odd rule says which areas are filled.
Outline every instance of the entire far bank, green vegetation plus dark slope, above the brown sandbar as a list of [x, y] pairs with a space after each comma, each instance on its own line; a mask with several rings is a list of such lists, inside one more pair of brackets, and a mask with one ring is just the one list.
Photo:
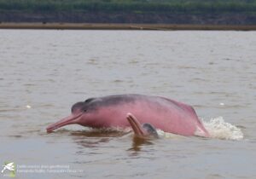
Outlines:
[[255, 26], [256, 0], [0, 0], [0, 23]]

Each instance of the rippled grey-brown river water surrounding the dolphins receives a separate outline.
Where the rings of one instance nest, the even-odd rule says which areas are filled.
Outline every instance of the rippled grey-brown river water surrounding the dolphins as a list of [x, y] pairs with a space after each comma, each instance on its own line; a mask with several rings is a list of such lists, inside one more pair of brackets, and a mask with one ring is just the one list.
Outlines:
[[[256, 177], [256, 32], [1, 30], [0, 42], [0, 163], [70, 169], [16, 178]], [[76, 101], [123, 93], [190, 104], [214, 137], [46, 134]]]

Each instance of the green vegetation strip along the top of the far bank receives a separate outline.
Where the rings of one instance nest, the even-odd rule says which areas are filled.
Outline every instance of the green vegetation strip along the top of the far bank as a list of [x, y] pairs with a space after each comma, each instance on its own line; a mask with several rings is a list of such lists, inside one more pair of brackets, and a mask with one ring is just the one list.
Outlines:
[[0, 0], [0, 11], [256, 13], [256, 0]]

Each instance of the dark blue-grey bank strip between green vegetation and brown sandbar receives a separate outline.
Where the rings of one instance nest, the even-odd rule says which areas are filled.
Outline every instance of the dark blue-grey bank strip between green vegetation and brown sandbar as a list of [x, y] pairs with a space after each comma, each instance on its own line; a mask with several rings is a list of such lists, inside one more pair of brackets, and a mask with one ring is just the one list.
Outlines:
[[256, 25], [256, 13], [134, 13], [134, 12], [21, 12], [0, 11], [0, 22]]

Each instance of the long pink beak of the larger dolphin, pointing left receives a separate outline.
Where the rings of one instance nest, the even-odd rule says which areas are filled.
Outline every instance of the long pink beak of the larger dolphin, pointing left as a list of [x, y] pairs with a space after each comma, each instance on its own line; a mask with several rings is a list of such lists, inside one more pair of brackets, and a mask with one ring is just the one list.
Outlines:
[[77, 123], [77, 119], [79, 117], [82, 116], [83, 113], [78, 113], [78, 114], [71, 114], [69, 116], [67, 116], [66, 118], [62, 118], [60, 121], [54, 123], [54, 124], [50, 124], [46, 130], [47, 132], [52, 132], [53, 130], [56, 130], [64, 125], [68, 125], [68, 124], [76, 124]]

